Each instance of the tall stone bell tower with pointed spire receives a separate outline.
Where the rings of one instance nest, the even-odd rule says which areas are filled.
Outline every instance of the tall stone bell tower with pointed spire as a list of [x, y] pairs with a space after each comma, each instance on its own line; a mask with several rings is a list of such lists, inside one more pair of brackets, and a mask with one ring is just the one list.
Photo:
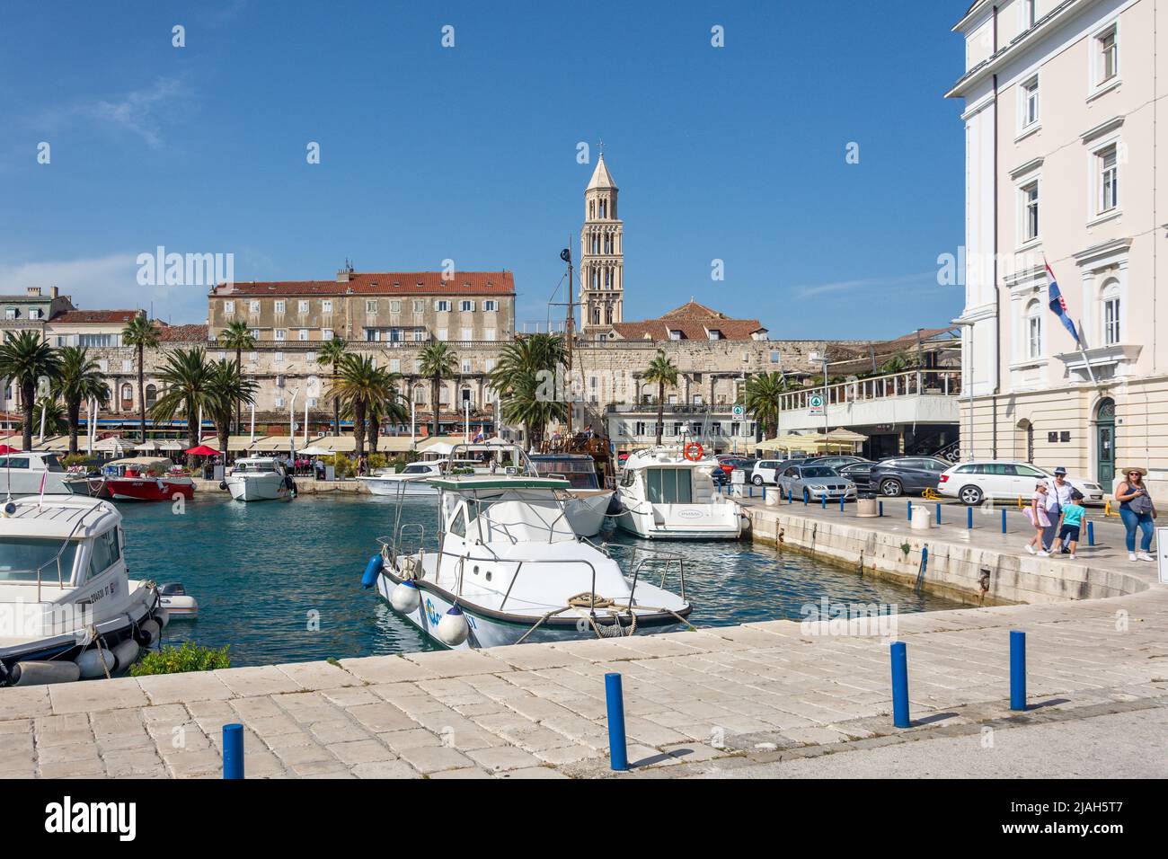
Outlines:
[[625, 303], [625, 227], [617, 216], [617, 183], [597, 159], [584, 189], [580, 230], [580, 326], [585, 330], [621, 321]]

